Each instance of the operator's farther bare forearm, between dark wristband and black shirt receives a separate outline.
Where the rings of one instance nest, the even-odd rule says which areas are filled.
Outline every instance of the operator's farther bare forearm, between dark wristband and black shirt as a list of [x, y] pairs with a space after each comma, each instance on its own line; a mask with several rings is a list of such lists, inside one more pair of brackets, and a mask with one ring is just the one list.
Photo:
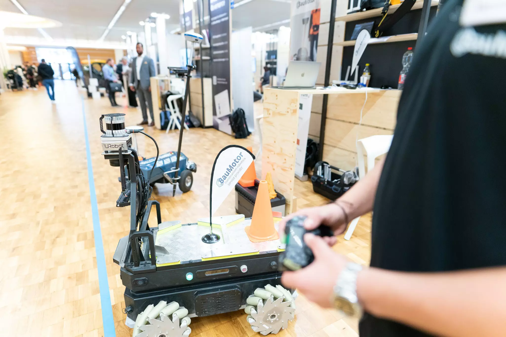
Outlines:
[[372, 211], [374, 197], [376, 196], [376, 188], [384, 163], [385, 159], [374, 165], [374, 168], [367, 172], [363, 179], [360, 179], [353, 185], [343, 197], [336, 200], [336, 203], [345, 209], [350, 221]]

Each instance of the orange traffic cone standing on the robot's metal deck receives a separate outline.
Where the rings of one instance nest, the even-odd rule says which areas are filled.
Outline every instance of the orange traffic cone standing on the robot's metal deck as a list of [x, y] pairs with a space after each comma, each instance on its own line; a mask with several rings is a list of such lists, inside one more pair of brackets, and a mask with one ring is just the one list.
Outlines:
[[258, 185], [257, 200], [253, 208], [251, 225], [244, 228], [251, 242], [263, 242], [277, 239], [278, 232], [274, 228], [271, 200], [267, 181], [262, 180]]

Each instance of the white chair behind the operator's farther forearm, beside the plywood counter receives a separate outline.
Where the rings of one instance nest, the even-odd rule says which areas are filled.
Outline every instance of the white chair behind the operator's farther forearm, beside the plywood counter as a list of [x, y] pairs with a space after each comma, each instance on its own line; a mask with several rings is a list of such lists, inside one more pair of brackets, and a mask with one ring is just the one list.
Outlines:
[[[360, 179], [365, 177], [365, 166], [364, 166], [364, 152], [367, 153], [367, 172], [372, 170], [374, 167], [375, 159], [381, 155], [384, 155], [390, 150], [392, 144], [393, 135], [376, 135], [367, 138], [359, 139], [357, 142], [357, 157], [358, 157], [358, 174]], [[345, 239], [349, 240], [360, 217], [355, 218], [350, 223], [348, 230], [345, 234]]]

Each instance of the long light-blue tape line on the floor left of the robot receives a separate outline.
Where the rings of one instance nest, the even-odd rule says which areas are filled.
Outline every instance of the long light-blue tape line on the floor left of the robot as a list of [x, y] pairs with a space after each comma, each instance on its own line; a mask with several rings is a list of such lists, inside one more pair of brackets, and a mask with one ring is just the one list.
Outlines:
[[114, 318], [112, 316], [111, 295], [109, 293], [109, 282], [107, 281], [107, 268], [105, 266], [102, 230], [100, 229], [100, 218], [98, 215], [95, 180], [93, 178], [92, 155], [90, 152], [90, 141], [88, 140], [88, 127], [86, 126], [84, 99], [82, 99], [82, 122], [85, 126], [86, 159], [88, 161], [88, 183], [90, 185], [90, 202], [92, 204], [93, 236], [95, 236], [95, 253], [97, 254], [98, 283], [100, 287], [100, 304], [102, 306], [104, 337], [116, 337], [116, 330], [114, 329]]

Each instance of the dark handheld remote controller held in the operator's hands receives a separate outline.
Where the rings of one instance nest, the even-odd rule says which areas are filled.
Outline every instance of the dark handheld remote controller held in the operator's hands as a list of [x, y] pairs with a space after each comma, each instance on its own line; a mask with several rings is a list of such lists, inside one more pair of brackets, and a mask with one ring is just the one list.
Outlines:
[[306, 216], [296, 216], [286, 223], [286, 249], [279, 256], [280, 265], [284, 270], [298, 270], [306, 267], [314, 260], [311, 249], [304, 242], [304, 234], [313, 233], [319, 236], [333, 236], [329, 226], [320, 225], [313, 230], [304, 228]]

